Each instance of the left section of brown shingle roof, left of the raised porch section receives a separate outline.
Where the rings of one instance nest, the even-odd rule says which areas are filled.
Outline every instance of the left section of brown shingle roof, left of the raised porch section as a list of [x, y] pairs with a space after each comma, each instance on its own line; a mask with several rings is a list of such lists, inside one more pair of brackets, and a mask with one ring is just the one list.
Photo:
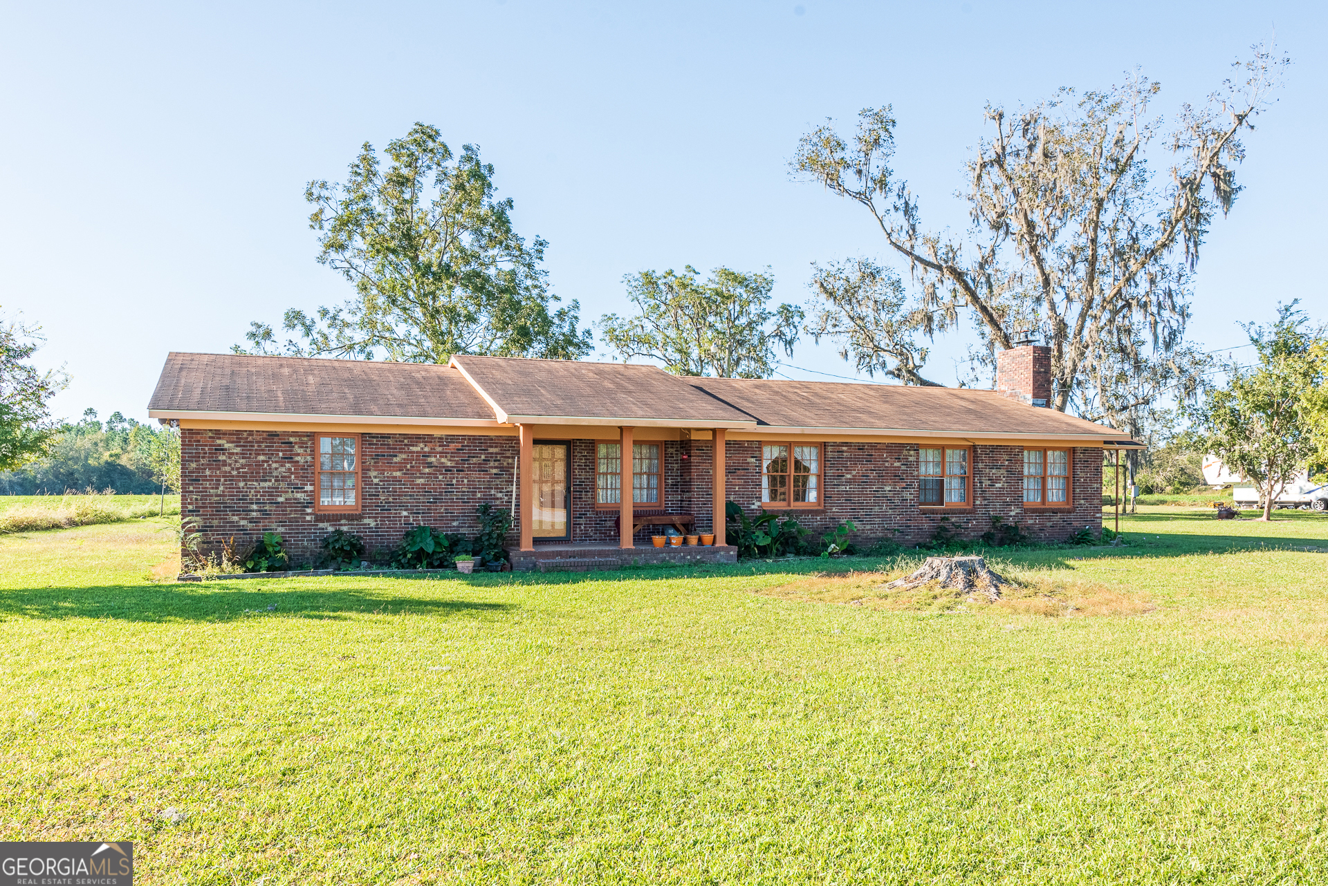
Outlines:
[[147, 409], [494, 420], [483, 398], [446, 366], [177, 351], [166, 357]]

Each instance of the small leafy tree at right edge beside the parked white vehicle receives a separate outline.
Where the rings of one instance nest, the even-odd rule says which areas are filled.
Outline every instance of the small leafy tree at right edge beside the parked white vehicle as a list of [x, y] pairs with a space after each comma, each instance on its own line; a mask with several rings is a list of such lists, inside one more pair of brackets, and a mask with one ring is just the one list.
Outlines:
[[1246, 326], [1258, 365], [1230, 367], [1227, 386], [1191, 411], [1208, 451], [1258, 487], [1263, 520], [1272, 517], [1274, 500], [1315, 451], [1304, 403], [1324, 374], [1313, 358], [1316, 336], [1295, 305], [1279, 305], [1271, 328]]

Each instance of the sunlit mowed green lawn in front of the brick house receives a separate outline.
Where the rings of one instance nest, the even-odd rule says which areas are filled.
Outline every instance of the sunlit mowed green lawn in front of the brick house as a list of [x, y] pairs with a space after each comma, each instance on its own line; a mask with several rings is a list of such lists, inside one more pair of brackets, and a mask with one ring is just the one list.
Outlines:
[[1000, 560], [1146, 601], [1056, 617], [780, 590], [915, 558], [181, 585], [161, 521], [7, 537], [0, 838], [149, 883], [1324, 882], [1328, 520], [1282, 516]]

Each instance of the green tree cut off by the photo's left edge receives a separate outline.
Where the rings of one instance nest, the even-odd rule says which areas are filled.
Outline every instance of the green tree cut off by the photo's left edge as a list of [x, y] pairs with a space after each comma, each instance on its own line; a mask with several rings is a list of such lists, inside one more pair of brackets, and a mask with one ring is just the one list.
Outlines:
[[39, 333], [17, 321], [0, 322], [0, 471], [45, 455], [57, 432], [49, 403], [66, 378], [28, 362], [41, 345]]

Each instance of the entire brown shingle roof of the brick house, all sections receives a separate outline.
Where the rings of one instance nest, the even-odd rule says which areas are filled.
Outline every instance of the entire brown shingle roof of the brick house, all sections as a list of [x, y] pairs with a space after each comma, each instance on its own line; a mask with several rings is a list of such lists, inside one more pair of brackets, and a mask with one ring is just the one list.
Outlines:
[[[641, 423], [866, 434], [1125, 435], [995, 391], [845, 382], [680, 378], [656, 366], [453, 357], [452, 366], [182, 354], [166, 358], [154, 415], [240, 414], [421, 423]], [[467, 381], [467, 377], [471, 381]], [[478, 390], [477, 390], [478, 387]], [[238, 415], [236, 415], [238, 416]], [[409, 422], [406, 422], [409, 423]]]

